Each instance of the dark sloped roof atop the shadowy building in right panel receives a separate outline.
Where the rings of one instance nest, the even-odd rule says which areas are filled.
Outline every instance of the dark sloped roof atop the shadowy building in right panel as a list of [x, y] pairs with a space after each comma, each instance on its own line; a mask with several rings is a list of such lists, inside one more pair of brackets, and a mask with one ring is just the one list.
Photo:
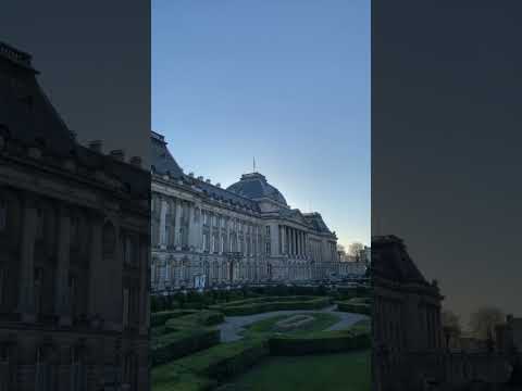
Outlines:
[[403, 241], [393, 235], [372, 238], [371, 268], [375, 277], [400, 283], [428, 285], [408, 254]]

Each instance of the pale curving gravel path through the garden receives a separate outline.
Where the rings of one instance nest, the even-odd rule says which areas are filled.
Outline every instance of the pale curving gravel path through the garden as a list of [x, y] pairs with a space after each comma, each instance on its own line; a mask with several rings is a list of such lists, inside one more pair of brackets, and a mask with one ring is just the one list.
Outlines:
[[226, 316], [225, 321], [217, 326], [221, 330], [221, 341], [232, 342], [243, 338], [240, 332], [248, 326], [258, 320], [266, 319], [277, 315], [307, 314], [307, 313], [332, 313], [339, 317], [339, 321], [328, 327], [326, 330], [341, 330], [350, 327], [356, 321], [368, 319], [368, 316], [361, 314], [351, 314], [336, 311], [337, 305], [332, 305], [323, 310], [293, 310], [274, 311], [270, 313], [246, 315], [246, 316]]

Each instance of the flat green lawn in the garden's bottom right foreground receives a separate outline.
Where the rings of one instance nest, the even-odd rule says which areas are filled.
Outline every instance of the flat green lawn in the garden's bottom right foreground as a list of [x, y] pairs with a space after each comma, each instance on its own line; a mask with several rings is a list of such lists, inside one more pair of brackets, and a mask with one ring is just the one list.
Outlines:
[[[370, 391], [370, 351], [270, 357], [237, 377], [238, 390]], [[156, 389], [154, 389], [156, 390]]]

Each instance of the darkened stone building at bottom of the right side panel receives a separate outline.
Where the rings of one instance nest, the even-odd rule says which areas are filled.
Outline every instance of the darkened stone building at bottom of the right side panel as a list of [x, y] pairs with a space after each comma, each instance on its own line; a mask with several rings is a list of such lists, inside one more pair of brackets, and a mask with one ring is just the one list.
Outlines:
[[402, 240], [372, 238], [371, 276], [375, 391], [460, 390], [473, 381], [508, 380], [508, 361], [501, 352], [448, 349], [439, 288], [436, 281], [426, 281]]

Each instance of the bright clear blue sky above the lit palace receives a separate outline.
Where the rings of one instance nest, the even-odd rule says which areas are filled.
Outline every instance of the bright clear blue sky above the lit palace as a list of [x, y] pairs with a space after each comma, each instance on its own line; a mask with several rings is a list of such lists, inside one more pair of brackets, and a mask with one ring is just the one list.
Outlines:
[[257, 171], [370, 242], [370, 0], [153, 0], [152, 129], [185, 173]]

